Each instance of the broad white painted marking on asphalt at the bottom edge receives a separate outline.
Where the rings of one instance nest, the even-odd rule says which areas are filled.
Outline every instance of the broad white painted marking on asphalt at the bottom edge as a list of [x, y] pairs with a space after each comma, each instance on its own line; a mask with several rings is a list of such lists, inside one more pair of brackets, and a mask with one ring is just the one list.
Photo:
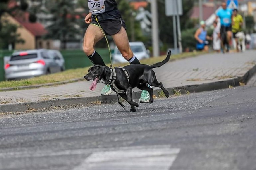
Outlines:
[[73, 170], [168, 170], [180, 152], [170, 145], [115, 149], [93, 152]]

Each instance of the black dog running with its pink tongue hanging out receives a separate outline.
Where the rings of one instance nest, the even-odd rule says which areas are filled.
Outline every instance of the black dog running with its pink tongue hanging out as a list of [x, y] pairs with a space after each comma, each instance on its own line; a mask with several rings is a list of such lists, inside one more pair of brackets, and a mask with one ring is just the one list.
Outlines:
[[[171, 51], [168, 52], [167, 57], [159, 63], [153, 64], [151, 66], [146, 64], [131, 64], [124, 66], [123, 68], [128, 72], [129, 81], [127, 75], [123, 71], [122, 68], [115, 68], [116, 72], [116, 80], [114, 85], [118, 87], [118, 89], [124, 91], [124, 93], [118, 92], [113, 85], [110, 85], [111, 89], [117, 92], [122, 98], [124, 98], [131, 105], [131, 112], [135, 112], [135, 106], [138, 107], [138, 103], [132, 101], [132, 89], [134, 87], [138, 87], [141, 90], [147, 90], [150, 94], [149, 103], [153, 102], [153, 89], [147, 86], [147, 83], [151, 86], [160, 87], [165, 96], [169, 97], [169, 92], [164, 88], [162, 83], [158, 83], [155, 72], [152, 70], [156, 67], [161, 67], [165, 63], [167, 63], [170, 59]], [[104, 67], [100, 65], [94, 65], [88, 70], [88, 74], [84, 76], [87, 81], [93, 80], [90, 89], [94, 90], [99, 81], [104, 84], [108, 84], [111, 70], [109, 67]], [[126, 94], [127, 93], [127, 94]], [[119, 103], [120, 104], [120, 103]]]

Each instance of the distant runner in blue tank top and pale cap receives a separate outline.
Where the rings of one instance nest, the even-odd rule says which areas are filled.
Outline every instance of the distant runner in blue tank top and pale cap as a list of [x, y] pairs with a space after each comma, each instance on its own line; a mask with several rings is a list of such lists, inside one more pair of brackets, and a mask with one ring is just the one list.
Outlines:
[[199, 51], [207, 51], [208, 52], [208, 41], [206, 39], [212, 39], [207, 35], [207, 31], [205, 29], [206, 25], [204, 21], [200, 22], [200, 28], [198, 28], [194, 34], [194, 38], [196, 39], [196, 50]]

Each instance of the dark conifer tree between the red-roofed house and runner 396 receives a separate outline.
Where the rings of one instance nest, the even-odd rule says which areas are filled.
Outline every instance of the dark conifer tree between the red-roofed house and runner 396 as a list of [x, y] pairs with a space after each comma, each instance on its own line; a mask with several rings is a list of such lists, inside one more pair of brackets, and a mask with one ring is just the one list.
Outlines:
[[66, 49], [67, 40], [77, 39], [76, 36], [81, 35], [76, 13], [74, 12], [74, 1], [55, 0], [52, 2], [49, 11], [53, 14], [53, 24], [47, 27], [47, 37], [60, 39], [62, 48]]

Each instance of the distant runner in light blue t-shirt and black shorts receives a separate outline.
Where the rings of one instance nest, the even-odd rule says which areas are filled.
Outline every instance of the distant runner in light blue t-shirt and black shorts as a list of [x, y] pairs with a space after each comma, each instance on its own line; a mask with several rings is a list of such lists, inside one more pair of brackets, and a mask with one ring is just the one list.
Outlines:
[[229, 51], [229, 42], [232, 37], [232, 9], [227, 8], [227, 3], [221, 3], [222, 9], [216, 13], [216, 20], [220, 19], [220, 37], [221, 47], [224, 52], [224, 43], [227, 45], [227, 52]]

